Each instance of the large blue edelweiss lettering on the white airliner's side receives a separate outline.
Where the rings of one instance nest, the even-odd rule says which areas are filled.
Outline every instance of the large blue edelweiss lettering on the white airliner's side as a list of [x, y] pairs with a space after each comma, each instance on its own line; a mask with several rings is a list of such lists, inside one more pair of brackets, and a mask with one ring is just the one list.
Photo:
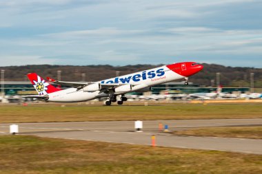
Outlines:
[[140, 80], [146, 80], [148, 78], [154, 78], [154, 77], [161, 77], [165, 75], [165, 71], [163, 68], [152, 70], [150, 72], [143, 71], [141, 74], [134, 74], [133, 76], [122, 76], [114, 78], [114, 80], [108, 80], [105, 82], [105, 80], [101, 81], [101, 84], [103, 83], [130, 83], [130, 80], [132, 79], [134, 82], [139, 82]]

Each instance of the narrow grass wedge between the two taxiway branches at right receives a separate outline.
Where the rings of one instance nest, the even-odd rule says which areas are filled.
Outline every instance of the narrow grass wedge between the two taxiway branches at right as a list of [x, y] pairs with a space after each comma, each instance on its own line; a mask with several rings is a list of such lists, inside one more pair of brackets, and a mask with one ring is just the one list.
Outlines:
[[262, 139], [262, 127], [208, 127], [173, 133], [174, 135]]

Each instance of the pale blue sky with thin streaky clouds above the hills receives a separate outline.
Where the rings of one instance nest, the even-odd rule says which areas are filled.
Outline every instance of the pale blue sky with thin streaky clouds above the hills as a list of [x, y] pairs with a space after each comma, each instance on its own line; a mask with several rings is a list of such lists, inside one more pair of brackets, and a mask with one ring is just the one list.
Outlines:
[[261, 0], [0, 0], [0, 67], [262, 67]]

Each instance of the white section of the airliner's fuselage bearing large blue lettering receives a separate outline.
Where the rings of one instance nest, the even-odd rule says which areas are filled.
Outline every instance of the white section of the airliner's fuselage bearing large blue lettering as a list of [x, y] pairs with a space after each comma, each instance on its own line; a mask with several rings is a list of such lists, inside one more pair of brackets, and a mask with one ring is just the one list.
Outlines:
[[[130, 84], [135, 85], [134, 90], [143, 89], [145, 87], [152, 87], [154, 85], [159, 85], [161, 83], [168, 83], [173, 80], [178, 80], [185, 78], [166, 66], [157, 67], [154, 69], [148, 69], [142, 72], [137, 72], [133, 74], [128, 74], [125, 76], [119, 76], [115, 78], [109, 78], [106, 80], [101, 80], [97, 83], [101, 84]], [[137, 87], [137, 88], [136, 88]], [[54, 93], [48, 94], [48, 101], [52, 102], [82, 102], [87, 100], [92, 100], [94, 98], [107, 97], [109, 94], [105, 94], [101, 91], [88, 92], [83, 89], [69, 88], [61, 91], [56, 91]]]

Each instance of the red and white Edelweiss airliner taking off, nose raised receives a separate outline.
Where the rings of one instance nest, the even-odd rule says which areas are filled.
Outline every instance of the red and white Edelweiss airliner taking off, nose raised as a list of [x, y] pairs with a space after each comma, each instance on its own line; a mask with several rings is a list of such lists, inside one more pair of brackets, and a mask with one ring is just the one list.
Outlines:
[[[163, 65], [161, 67], [148, 69], [142, 72], [109, 78], [98, 82], [66, 82], [54, 80], [50, 77], [47, 80], [50, 83], [58, 85], [70, 86], [68, 89], [60, 89], [54, 87], [46, 80], [43, 80], [36, 73], [28, 74], [34, 89], [39, 95], [23, 96], [26, 98], [37, 98], [46, 102], [83, 102], [93, 100], [95, 98], [105, 98], [105, 105], [111, 105], [112, 102], [117, 102], [118, 105], [123, 105], [123, 102], [128, 100], [125, 94], [132, 91], [145, 92], [150, 91], [154, 85], [168, 83], [173, 80], [184, 78], [185, 85], [188, 85], [188, 77], [198, 73], [203, 69], [203, 65], [195, 62], [173, 63]], [[117, 96], [120, 96], [117, 101]]]

